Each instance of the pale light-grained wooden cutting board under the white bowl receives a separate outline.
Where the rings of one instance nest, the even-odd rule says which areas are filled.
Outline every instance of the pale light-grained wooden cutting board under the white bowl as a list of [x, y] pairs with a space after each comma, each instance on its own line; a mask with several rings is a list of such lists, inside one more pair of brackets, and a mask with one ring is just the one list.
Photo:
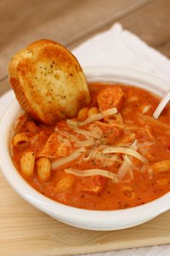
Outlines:
[[74, 255], [169, 243], [170, 211], [120, 231], [76, 229], [24, 202], [0, 173], [0, 255]]

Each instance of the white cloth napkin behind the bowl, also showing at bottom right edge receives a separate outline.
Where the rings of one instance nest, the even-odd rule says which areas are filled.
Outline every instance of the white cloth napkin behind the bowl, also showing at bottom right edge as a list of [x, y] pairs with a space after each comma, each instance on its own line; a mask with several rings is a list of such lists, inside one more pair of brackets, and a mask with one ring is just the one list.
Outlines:
[[[86, 40], [73, 49], [81, 67], [117, 66], [148, 72], [170, 82], [170, 61], [149, 47], [138, 36], [115, 23], [109, 30]], [[169, 256], [170, 245], [121, 249], [91, 256]], [[86, 255], [87, 256], [87, 255]]]

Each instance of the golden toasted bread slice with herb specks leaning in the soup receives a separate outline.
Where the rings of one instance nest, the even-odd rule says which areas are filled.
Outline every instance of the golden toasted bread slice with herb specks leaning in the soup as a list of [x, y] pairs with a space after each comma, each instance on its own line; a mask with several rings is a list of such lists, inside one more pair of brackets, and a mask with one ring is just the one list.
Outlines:
[[72, 118], [90, 102], [79, 62], [52, 40], [37, 40], [14, 54], [9, 79], [22, 108], [45, 124]]

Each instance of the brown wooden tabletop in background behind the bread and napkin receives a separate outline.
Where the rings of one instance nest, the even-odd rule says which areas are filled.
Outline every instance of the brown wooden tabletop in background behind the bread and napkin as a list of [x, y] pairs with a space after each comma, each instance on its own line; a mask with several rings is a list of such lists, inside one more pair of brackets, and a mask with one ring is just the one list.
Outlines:
[[0, 95], [9, 90], [7, 65], [33, 40], [50, 38], [68, 48], [114, 22], [170, 57], [169, 0], [0, 1]]

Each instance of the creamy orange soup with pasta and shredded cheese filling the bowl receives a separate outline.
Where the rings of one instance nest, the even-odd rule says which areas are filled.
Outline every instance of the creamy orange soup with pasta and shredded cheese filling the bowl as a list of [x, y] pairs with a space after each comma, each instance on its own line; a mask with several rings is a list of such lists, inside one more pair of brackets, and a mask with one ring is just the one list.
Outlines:
[[91, 106], [49, 127], [24, 115], [12, 138], [19, 173], [42, 195], [76, 208], [143, 205], [170, 189], [170, 106], [129, 85], [92, 83]]

